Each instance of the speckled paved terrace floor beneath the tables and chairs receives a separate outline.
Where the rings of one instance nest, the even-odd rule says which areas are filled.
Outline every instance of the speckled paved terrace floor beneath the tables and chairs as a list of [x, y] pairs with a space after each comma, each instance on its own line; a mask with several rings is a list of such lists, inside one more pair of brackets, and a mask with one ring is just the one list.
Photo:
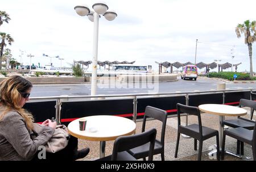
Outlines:
[[[255, 120], [254, 113], [254, 120]], [[246, 116], [244, 116], [246, 117]], [[225, 117], [225, 119], [232, 119], [237, 117]], [[218, 116], [201, 113], [201, 121], [203, 126], [207, 126], [210, 128], [214, 128], [218, 130]], [[185, 125], [185, 117], [181, 117], [181, 124]], [[188, 124], [197, 123], [197, 117], [195, 116], [188, 116]], [[160, 132], [162, 124], [161, 122], [150, 120], [146, 123], [146, 129], [155, 127], [158, 131], [156, 138], [160, 140]], [[142, 121], [137, 122], [136, 132], [141, 132], [142, 128]], [[179, 151], [177, 154], [177, 158], [174, 158], [175, 154], [175, 147], [176, 147], [176, 138], [177, 138], [177, 118], [167, 118], [167, 126], [166, 126], [166, 136], [165, 136], [165, 147], [164, 147], [164, 158], [166, 161], [196, 161], [197, 160], [197, 151], [193, 149], [193, 138], [185, 139], [184, 137], [180, 137], [180, 144], [179, 144]], [[106, 151], [105, 156], [112, 154], [113, 150], [113, 143], [114, 141], [106, 141]], [[212, 137], [208, 140], [203, 142], [203, 153], [202, 153], [202, 160], [203, 161], [216, 161], [213, 157], [208, 156], [208, 152], [212, 149], [211, 145], [216, 144], [216, 137]], [[232, 137], [226, 136], [226, 144], [225, 149], [236, 153], [236, 145], [237, 141]], [[79, 149], [89, 147], [90, 152], [88, 156], [82, 158], [78, 161], [92, 161], [96, 160], [100, 155], [100, 142], [99, 141], [86, 141], [79, 139]], [[199, 143], [197, 141], [197, 150], [199, 148]], [[253, 160], [253, 153], [251, 151], [251, 146], [245, 144], [244, 146], [244, 156], [243, 159], [237, 158], [234, 156], [229, 156], [225, 154], [224, 160], [225, 161], [252, 161]], [[142, 159], [141, 159], [142, 160]], [[154, 155], [154, 161], [160, 161], [161, 157], [160, 154]]]

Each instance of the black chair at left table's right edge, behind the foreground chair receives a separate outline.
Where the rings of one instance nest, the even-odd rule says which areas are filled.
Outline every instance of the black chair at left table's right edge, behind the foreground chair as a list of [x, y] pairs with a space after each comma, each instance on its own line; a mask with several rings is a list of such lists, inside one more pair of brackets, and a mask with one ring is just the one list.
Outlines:
[[[147, 117], [154, 118], [162, 122], [161, 140], [155, 140], [154, 154], [160, 153], [162, 161], [164, 161], [164, 135], [166, 132], [167, 112], [162, 109], [147, 106], [142, 123], [142, 132], [145, 131]], [[146, 157], [148, 156], [148, 147], [149, 144], [144, 144], [140, 147], [130, 149], [128, 152], [137, 159], [143, 158], [143, 160], [146, 160]]]

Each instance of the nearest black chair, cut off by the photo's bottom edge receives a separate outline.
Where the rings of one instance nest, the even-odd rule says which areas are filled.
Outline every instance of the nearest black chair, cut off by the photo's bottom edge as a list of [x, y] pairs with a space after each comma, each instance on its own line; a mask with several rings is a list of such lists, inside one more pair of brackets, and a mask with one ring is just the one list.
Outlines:
[[114, 142], [112, 155], [100, 158], [96, 161], [137, 161], [137, 159], [131, 156], [127, 151], [147, 143], [149, 145], [147, 149], [148, 161], [152, 161], [154, 155], [155, 136], [156, 129], [152, 128], [151, 130], [140, 134], [117, 137]]

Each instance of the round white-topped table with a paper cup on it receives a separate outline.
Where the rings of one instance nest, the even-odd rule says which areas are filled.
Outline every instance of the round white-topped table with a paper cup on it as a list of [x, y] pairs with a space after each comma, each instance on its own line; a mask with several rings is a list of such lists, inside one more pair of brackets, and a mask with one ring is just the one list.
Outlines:
[[82, 119], [87, 120], [85, 131], [79, 130], [79, 119], [76, 119], [68, 124], [68, 132], [79, 139], [100, 141], [101, 158], [105, 156], [106, 141], [115, 140], [119, 136], [134, 134], [136, 130], [136, 124], [123, 117], [94, 115]]

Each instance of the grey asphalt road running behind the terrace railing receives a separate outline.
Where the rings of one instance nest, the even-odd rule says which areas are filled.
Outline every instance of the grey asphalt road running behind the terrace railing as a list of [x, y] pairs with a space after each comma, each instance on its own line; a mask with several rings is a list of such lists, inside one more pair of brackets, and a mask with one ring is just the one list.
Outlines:
[[[136, 94], [136, 93], [168, 93], [185, 91], [216, 90], [217, 83], [222, 81], [198, 78], [195, 80], [181, 80], [158, 84], [98, 84], [97, 94]], [[256, 83], [226, 83], [226, 89], [256, 89]], [[90, 84], [49, 84], [34, 85], [31, 97], [46, 96], [85, 96], [90, 95]]]

